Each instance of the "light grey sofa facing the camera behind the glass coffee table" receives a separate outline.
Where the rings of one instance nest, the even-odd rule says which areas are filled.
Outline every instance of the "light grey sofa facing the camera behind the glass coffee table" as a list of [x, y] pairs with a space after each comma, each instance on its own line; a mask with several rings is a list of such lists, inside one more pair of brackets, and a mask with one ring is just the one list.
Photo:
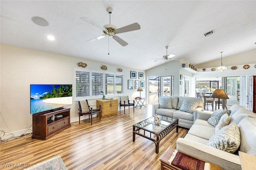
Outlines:
[[179, 119], [179, 126], [184, 128], [190, 128], [194, 124], [195, 117], [192, 113], [188, 113], [185, 111], [180, 111], [183, 101], [186, 99], [187, 101], [195, 101], [198, 103], [198, 106], [195, 108], [195, 111], [203, 110], [203, 100], [196, 97], [177, 97], [177, 96], [161, 96], [161, 99], [170, 99], [171, 109], [161, 108], [161, 103], [152, 104], [152, 114], [166, 115], [170, 117], [175, 117]]

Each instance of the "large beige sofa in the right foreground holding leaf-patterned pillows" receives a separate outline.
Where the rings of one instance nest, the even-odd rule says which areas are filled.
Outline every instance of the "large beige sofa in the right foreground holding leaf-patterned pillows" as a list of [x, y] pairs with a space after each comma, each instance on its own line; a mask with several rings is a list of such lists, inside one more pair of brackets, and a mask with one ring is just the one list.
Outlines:
[[[256, 155], [256, 114], [240, 105], [231, 106], [230, 111], [230, 123], [227, 126], [237, 124], [239, 127], [240, 147], [238, 150]], [[208, 141], [215, 134], [215, 128], [207, 122], [212, 113], [211, 111], [194, 112], [194, 125], [184, 138], [178, 138], [177, 150], [216, 164], [223, 170], [241, 170], [238, 150], [233, 154], [208, 146]]]

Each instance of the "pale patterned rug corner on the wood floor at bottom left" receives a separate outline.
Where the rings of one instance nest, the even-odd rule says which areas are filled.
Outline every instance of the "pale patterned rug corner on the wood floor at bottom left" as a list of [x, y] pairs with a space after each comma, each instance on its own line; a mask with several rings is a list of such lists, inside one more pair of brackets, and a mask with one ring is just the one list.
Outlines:
[[25, 170], [67, 170], [60, 156], [38, 163]]

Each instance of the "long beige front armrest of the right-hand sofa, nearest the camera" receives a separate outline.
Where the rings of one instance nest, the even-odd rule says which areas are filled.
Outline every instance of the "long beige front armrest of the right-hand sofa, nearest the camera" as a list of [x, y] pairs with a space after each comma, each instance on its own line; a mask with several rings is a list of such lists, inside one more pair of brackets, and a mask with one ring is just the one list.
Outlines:
[[240, 158], [238, 155], [231, 154], [193, 140], [178, 138], [177, 150], [220, 166], [223, 170], [241, 170]]

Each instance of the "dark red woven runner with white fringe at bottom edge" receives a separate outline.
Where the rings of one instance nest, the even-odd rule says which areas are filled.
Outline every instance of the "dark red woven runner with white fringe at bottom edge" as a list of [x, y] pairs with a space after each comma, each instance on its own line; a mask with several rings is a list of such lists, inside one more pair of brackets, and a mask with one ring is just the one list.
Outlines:
[[177, 166], [182, 170], [210, 170], [209, 163], [178, 152], [178, 150], [175, 150], [172, 153], [172, 156], [168, 161], [170, 164]]

